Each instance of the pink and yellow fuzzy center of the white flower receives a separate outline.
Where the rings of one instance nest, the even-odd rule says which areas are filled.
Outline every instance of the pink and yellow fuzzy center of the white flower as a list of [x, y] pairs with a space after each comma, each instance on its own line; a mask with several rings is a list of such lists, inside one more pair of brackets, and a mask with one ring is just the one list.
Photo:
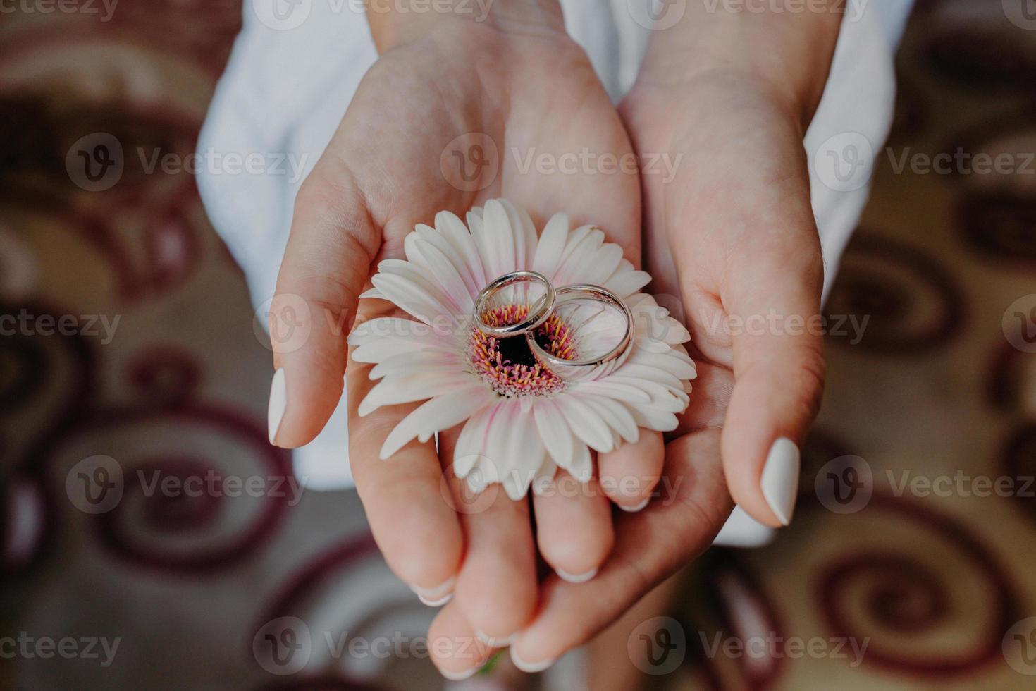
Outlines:
[[[527, 305], [508, 305], [483, 315], [487, 324], [513, 324], [528, 314]], [[566, 359], [577, 357], [572, 329], [556, 314], [536, 332], [536, 341], [552, 355]], [[565, 388], [565, 380], [551, 372], [529, 349], [525, 335], [496, 338], [471, 329], [469, 342], [471, 366], [500, 396], [549, 396]]]

